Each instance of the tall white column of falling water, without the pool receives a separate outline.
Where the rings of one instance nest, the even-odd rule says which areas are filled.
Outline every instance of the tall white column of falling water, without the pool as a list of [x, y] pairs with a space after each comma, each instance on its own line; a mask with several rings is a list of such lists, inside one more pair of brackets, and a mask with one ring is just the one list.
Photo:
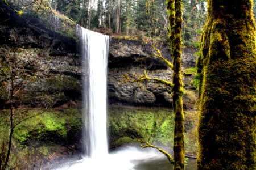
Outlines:
[[[108, 154], [106, 129], [106, 81], [109, 36], [81, 28], [82, 57], [85, 61], [83, 97], [85, 152], [91, 158]], [[88, 70], [88, 71], [87, 71]]]

